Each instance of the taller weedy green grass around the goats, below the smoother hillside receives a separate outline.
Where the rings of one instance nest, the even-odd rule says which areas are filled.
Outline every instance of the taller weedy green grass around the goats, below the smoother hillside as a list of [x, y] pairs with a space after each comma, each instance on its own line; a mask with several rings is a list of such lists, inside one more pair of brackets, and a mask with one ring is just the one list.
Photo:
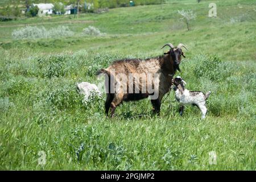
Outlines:
[[[187, 88], [212, 91], [204, 121], [192, 106], [180, 117], [174, 92], [160, 117], [142, 100], [124, 103], [108, 119], [104, 95], [82, 102], [76, 83], [97, 84], [97, 69], [123, 57], [133, 55], [2, 57], [8, 76], [0, 87], [1, 169], [255, 169], [254, 64], [212, 55], [183, 60], [179, 75]], [[45, 166], [38, 164], [39, 151], [46, 152]], [[217, 165], [208, 163], [210, 151], [217, 152]]]

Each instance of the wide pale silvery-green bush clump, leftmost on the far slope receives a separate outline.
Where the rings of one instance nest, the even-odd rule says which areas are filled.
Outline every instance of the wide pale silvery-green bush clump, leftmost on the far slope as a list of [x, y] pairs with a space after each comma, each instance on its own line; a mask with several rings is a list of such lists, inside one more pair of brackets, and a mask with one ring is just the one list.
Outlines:
[[72, 36], [74, 33], [66, 26], [59, 26], [46, 30], [42, 27], [27, 26], [18, 28], [11, 34], [14, 39], [40, 39], [40, 38], [57, 38], [62, 36]]

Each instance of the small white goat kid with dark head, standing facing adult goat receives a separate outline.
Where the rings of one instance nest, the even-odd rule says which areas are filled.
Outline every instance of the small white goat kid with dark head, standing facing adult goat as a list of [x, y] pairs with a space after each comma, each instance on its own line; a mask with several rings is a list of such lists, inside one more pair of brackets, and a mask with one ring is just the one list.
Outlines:
[[206, 101], [210, 95], [210, 91], [206, 94], [200, 91], [189, 91], [184, 88], [187, 83], [180, 76], [175, 77], [172, 82], [174, 84], [176, 100], [180, 102], [180, 115], [183, 114], [184, 105], [191, 104], [199, 107], [202, 112], [202, 119], [204, 119], [207, 113]]

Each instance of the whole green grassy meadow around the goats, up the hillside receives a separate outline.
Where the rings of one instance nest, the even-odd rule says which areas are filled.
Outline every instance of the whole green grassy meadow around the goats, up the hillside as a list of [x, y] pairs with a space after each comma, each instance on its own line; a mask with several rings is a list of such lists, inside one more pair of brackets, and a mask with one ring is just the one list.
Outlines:
[[[208, 5], [217, 17], [208, 17]], [[193, 10], [191, 31], [177, 10]], [[255, 170], [255, 1], [167, 1], [102, 14], [0, 22], [0, 169], [3, 170]], [[17, 39], [15, 30], [66, 26], [72, 34]], [[83, 35], [97, 27], [102, 36]], [[149, 100], [104, 113], [105, 95], [83, 102], [76, 83], [101, 85], [96, 71], [123, 58], [162, 55], [163, 44], [185, 44], [177, 72], [189, 90], [210, 95], [177, 112], [174, 92], [160, 116]], [[42, 151], [46, 163], [40, 164]], [[209, 163], [209, 152], [217, 155]]]

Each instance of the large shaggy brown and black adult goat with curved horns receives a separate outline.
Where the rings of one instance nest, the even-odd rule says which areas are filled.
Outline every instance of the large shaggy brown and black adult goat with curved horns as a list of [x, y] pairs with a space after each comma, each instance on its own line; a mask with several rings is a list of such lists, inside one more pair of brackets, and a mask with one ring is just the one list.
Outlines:
[[170, 50], [163, 56], [146, 60], [117, 60], [108, 68], [98, 71], [98, 74], [106, 74], [106, 115], [111, 107], [113, 117], [115, 108], [122, 101], [136, 101], [148, 96], [151, 97], [154, 113], [160, 113], [162, 98], [172, 86], [172, 76], [176, 70], [180, 71], [181, 56], [185, 57], [181, 47], [187, 49], [181, 43], [177, 47], [167, 43], [162, 48], [166, 46]]

